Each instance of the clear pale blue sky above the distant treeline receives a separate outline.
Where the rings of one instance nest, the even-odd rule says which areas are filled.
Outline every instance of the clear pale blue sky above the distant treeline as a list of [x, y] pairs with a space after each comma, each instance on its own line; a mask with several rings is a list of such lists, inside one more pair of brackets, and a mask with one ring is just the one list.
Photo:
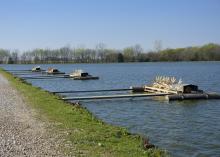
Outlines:
[[0, 48], [220, 43], [220, 0], [0, 0]]

